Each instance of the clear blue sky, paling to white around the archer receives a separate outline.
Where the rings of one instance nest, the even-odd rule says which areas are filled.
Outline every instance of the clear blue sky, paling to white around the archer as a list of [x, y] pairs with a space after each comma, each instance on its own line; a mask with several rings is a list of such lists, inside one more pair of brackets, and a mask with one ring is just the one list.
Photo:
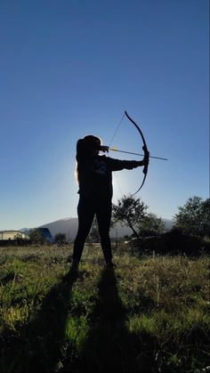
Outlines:
[[[150, 154], [168, 158], [150, 160], [136, 196], [148, 212], [172, 218], [190, 197], [208, 197], [208, 6], [0, 2], [0, 230], [77, 216], [77, 140], [96, 134], [109, 145], [125, 109]], [[126, 118], [111, 145], [142, 146]], [[114, 202], [143, 177], [141, 168], [115, 174]]]

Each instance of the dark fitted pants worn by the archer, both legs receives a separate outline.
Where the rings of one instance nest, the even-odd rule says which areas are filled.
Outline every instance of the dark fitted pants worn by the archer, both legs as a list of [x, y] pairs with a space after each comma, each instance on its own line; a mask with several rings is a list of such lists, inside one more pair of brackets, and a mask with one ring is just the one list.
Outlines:
[[111, 199], [98, 195], [79, 198], [78, 207], [78, 231], [75, 239], [73, 261], [80, 261], [85, 245], [85, 239], [91, 230], [94, 215], [96, 215], [101, 247], [106, 262], [112, 258], [109, 227], [111, 221]]

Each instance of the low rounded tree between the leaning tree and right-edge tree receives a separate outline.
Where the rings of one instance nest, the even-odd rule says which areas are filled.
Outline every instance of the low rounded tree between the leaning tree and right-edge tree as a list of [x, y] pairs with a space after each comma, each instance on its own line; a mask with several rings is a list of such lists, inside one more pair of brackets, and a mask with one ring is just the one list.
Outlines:
[[163, 220], [155, 214], [148, 214], [138, 224], [142, 236], [156, 236], [166, 230]]

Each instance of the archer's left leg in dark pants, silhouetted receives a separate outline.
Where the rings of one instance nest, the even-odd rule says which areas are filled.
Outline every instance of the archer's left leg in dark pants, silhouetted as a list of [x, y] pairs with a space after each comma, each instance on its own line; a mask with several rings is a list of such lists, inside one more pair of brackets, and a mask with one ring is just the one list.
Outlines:
[[73, 251], [73, 262], [79, 262], [83, 253], [85, 239], [93, 223], [94, 217], [94, 206], [92, 199], [84, 197], [79, 198], [78, 207], [78, 231], [75, 239], [74, 251]]

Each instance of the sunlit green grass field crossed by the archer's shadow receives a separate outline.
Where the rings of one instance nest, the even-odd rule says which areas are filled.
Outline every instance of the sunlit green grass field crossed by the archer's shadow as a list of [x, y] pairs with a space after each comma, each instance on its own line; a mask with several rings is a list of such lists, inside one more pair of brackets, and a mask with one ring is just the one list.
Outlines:
[[[201, 372], [210, 365], [209, 257], [0, 248], [1, 372]], [[206, 369], [206, 370], [202, 370]]]

